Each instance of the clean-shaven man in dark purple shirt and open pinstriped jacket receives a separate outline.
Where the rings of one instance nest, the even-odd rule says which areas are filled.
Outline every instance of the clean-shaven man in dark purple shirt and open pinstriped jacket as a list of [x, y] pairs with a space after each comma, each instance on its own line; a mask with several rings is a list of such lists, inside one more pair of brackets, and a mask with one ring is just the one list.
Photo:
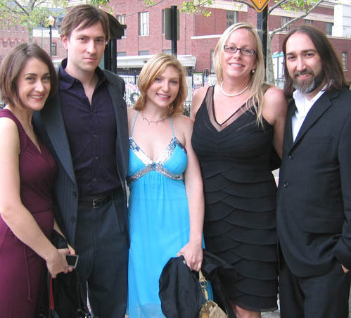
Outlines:
[[79, 255], [94, 317], [124, 318], [127, 108], [123, 80], [98, 68], [108, 38], [106, 13], [89, 5], [70, 9], [61, 25], [68, 58], [58, 93], [34, 122], [58, 162], [56, 219]]

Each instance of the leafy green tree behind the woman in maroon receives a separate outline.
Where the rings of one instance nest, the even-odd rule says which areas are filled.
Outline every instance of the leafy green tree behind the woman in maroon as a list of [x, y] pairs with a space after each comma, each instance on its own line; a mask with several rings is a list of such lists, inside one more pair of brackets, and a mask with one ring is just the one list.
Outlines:
[[22, 25], [28, 30], [28, 42], [33, 41], [33, 29], [49, 26], [49, 16], [60, 14], [57, 8], [65, 8], [70, 0], [0, 0], [0, 25]]

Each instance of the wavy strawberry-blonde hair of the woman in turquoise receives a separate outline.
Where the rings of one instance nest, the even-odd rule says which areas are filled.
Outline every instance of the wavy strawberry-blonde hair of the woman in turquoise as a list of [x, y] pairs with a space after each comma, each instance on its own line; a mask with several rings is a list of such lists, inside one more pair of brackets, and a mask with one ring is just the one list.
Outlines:
[[188, 93], [186, 71], [175, 56], [165, 53], [156, 54], [143, 66], [138, 79], [140, 96], [134, 105], [136, 110], [143, 110], [143, 108], [145, 108], [146, 92], [149, 87], [151, 87], [151, 84], [155, 82], [156, 77], [165, 72], [167, 66], [173, 66], [179, 72], [179, 91], [177, 97], [170, 106], [168, 115], [172, 116], [173, 114], [183, 113], [183, 103]]

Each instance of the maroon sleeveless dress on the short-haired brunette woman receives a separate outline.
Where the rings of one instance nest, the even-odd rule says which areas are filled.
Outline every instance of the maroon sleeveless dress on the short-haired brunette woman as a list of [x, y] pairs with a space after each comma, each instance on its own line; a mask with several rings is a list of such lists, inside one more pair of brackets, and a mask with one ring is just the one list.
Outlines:
[[[18, 127], [20, 198], [40, 229], [50, 237], [53, 230], [51, 191], [56, 174], [55, 162], [39, 139], [41, 152], [38, 151], [10, 110], [1, 110], [0, 117], [11, 118]], [[0, 216], [1, 317], [34, 317], [42, 301], [45, 270], [44, 259], [17, 239]]]

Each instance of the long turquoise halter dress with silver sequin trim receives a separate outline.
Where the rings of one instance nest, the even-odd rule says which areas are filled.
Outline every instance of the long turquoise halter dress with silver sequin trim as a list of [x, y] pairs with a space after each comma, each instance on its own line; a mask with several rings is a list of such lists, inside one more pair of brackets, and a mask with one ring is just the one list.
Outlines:
[[170, 257], [189, 241], [189, 207], [184, 185], [188, 163], [184, 146], [174, 136], [157, 161], [129, 137], [129, 318], [165, 317], [158, 280]]

